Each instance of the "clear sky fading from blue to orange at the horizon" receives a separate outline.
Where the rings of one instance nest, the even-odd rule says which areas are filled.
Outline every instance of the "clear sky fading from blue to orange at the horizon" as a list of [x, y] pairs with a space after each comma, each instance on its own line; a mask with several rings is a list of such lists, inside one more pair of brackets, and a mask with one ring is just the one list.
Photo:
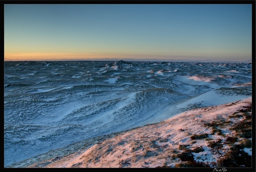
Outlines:
[[252, 4], [4, 4], [4, 61], [252, 59]]

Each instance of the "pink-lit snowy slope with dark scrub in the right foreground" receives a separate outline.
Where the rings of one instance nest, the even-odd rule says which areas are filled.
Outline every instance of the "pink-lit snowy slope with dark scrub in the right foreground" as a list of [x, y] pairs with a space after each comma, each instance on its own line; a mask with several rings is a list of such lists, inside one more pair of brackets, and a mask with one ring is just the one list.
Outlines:
[[[252, 99], [198, 108], [28, 168], [252, 168]], [[248, 127], [248, 128], [247, 128]], [[249, 132], [248, 132], [249, 133]], [[82, 153], [81, 153], [82, 152]]]

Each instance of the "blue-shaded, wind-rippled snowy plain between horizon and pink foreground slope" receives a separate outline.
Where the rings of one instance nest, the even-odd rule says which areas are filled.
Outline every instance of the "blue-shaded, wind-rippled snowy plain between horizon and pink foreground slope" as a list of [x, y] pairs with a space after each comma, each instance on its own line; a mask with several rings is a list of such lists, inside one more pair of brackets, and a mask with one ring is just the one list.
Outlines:
[[4, 62], [4, 167], [251, 95], [252, 64]]

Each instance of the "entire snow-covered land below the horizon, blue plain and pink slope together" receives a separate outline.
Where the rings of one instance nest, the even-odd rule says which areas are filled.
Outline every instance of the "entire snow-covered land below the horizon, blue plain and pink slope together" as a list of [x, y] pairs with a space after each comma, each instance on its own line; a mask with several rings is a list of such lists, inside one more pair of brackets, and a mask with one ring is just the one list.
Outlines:
[[251, 108], [247, 63], [5, 62], [4, 167], [250, 168]]

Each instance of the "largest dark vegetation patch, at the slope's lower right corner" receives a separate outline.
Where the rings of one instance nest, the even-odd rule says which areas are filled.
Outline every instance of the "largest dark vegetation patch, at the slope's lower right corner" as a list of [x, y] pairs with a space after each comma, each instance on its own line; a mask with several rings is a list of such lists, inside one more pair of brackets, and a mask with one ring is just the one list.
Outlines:
[[[235, 131], [235, 136], [224, 136], [224, 141], [222, 139], [213, 140], [208, 138], [207, 133], [203, 134], [194, 134], [190, 138], [192, 139], [192, 144], [196, 143], [193, 140], [204, 139], [208, 141], [208, 147], [212, 148], [212, 151], [215, 153], [220, 153], [220, 150], [223, 148], [223, 144], [229, 145], [229, 150], [216, 162], [202, 162], [194, 160], [192, 152], [198, 153], [203, 152], [204, 148], [196, 147], [193, 150], [188, 149], [188, 145], [179, 145], [179, 150], [183, 150], [182, 153], [178, 151], [172, 152], [172, 159], [179, 158], [181, 161], [179, 164], [176, 164], [176, 168], [237, 168], [237, 167], [252, 167], [252, 156], [244, 152], [244, 148], [252, 148], [252, 105], [243, 106], [237, 112], [233, 113], [230, 118], [239, 118], [239, 121], [236, 124], [232, 124], [231, 120], [218, 119], [216, 121], [207, 122], [201, 120], [204, 127], [212, 128], [212, 135], [221, 135], [224, 136], [220, 128], [228, 127], [229, 130]], [[232, 124], [232, 127], [230, 127]], [[238, 142], [238, 144], [236, 144]], [[200, 159], [200, 158], [199, 158]]]

